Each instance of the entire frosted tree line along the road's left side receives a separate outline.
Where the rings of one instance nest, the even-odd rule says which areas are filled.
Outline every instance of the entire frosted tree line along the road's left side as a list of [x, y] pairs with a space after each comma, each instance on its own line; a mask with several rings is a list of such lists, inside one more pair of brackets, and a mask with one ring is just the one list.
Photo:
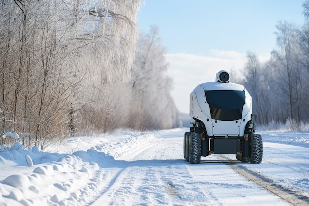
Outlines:
[[180, 126], [158, 29], [138, 33], [141, 3], [0, 0], [0, 135], [13, 128], [44, 149], [75, 134]]

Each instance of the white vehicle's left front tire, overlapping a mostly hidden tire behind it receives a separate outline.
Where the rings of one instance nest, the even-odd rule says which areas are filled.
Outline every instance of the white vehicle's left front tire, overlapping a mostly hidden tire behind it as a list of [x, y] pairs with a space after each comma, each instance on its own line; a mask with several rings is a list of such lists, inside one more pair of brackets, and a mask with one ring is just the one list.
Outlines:
[[189, 163], [200, 163], [201, 137], [199, 133], [193, 132], [189, 135]]

